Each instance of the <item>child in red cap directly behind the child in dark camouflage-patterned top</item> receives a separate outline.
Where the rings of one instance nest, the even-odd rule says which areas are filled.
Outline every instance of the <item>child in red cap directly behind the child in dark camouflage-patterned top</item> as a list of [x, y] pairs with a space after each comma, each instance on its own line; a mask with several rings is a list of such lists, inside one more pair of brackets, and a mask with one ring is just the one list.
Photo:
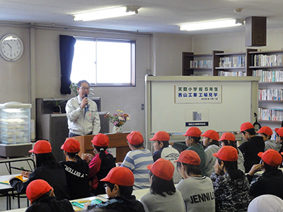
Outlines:
[[221, 135], [219, 141], [221, 141], [221, 146], [233, 146], [234, 148], [236, 148], [236, 150], [238, 151], [238, 170], [241, 170], [245, 173], [246, 170], [245, 166], [243, 165], [243, 153], [237, 147], [235, 135], [231, 132], [226, 132]]

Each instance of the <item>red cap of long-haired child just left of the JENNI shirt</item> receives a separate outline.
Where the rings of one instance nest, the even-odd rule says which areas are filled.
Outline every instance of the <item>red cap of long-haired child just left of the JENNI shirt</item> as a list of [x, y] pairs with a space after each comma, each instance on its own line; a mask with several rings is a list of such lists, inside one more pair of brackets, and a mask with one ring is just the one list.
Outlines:
[[175, 167], [170, 160], [159, 158], [154, 164], [148, 165], [147, 169], [151, 170], [156, 177], [169, 181], [173, 177]]

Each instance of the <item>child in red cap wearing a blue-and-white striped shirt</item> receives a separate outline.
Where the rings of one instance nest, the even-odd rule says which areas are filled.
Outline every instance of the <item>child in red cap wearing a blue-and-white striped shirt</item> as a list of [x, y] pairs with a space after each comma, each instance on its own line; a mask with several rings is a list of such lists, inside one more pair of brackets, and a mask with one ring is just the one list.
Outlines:
[[144, 138], [139, 131], [132, 131], [127, 135], [129, 151], [121, 164], [134, 174], [134, 189], [146, 189], [150, 187], [149, 172], [146, 166], [154, 163], [151, 152], [144, 148]]

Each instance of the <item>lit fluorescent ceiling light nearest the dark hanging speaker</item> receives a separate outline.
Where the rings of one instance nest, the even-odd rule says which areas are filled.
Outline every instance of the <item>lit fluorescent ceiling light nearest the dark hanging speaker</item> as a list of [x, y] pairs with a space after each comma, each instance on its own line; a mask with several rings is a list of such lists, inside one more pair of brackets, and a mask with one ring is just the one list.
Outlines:
[[180, 30], [194, 31], [194, 30], [208, 30], [215, 28], [229, 28], [237, 25], [243, 25], [236, 19], [229, 20], [212, 20], [207, 22], [195, 22], [180, 25]]

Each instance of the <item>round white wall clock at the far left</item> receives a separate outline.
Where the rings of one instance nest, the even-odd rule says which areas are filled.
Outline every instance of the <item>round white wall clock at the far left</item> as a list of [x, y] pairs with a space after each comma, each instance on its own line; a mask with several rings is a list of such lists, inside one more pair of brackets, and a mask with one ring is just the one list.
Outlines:
[[1, 38], [0, 45], [0, 54], [8, 61], [16, 61], [23, 54], [23, 42], [16, 35], [5, 35]]

